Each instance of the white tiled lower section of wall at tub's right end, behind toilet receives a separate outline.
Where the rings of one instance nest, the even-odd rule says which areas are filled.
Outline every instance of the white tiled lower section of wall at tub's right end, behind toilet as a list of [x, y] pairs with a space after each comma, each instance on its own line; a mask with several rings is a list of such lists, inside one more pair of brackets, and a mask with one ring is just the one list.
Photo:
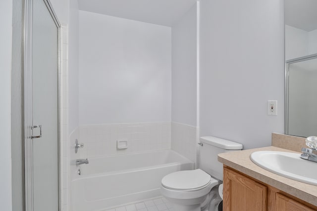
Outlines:
[[198, 127], [171, 123], [171, 149], [196, 163]]

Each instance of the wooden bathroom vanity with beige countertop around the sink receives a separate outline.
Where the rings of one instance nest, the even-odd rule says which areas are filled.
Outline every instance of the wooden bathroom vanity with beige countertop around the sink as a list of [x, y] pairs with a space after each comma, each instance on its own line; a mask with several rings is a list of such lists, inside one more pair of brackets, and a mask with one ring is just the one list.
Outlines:
[[294, 153], [271, 146], [218, 154], [224, 165], [224, 211], [317, 211], [317, 186], [262, 169], [250, 160], [256, 151]]

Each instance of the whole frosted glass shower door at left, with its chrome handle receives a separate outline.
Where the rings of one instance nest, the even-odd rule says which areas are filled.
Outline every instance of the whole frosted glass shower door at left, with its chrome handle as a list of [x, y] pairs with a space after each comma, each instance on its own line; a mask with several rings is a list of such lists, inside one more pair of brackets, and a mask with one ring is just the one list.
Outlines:
[[[26, 211], [58, 211], [58, 22], [47, 0], [28, 0]], [[25, 121], [27, 122], [27, 121]]]

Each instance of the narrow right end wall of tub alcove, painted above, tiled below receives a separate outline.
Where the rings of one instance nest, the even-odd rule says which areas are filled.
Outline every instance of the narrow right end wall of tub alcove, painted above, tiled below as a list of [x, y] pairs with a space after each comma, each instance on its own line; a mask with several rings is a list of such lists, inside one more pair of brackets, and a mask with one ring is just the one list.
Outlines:
[[197, 4], [172, 26], [171, 149], [196, 163]]

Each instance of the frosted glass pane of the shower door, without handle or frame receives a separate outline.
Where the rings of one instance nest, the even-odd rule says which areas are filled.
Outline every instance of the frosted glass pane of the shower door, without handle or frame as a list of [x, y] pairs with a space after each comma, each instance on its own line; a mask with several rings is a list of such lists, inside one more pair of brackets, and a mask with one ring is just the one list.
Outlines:
[[34, 211], [58, 211], [58, 34], [44, 0], [33, 1], [33, 139]]

